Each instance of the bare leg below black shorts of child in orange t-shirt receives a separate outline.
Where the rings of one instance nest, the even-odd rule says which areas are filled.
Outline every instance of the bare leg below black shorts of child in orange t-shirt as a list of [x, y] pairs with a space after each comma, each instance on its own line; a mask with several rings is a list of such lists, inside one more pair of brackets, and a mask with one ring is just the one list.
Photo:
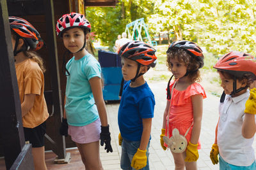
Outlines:
[[32, 148], [35, 170], [47, 170], [44, 154], [44, 146], [40, 148]]

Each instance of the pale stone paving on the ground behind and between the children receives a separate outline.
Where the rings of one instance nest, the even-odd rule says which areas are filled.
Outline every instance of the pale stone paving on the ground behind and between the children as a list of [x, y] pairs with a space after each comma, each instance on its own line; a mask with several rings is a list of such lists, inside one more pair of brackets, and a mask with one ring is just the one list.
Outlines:
[[[164, 151], [160, 145], [160, 133], [163, 123], [163, 112], [166, 106], [166, 82], [161, 81], [157, 83], [148, 83], [150, 89], [152, 89], [156, 106], [154, 112], [154, 118], [152, 121], [151, 141], [150, 141], [150, 156], [149, 164], [150, 170], [164, 170], [175, 169], [172, 153], [170, 150]], [[203, 85], [204, 86], [204, 85]], [[198, 169], [219, 169], [218, 165], [213, 165], [209, 157], [212, 143], [214, 143], [215, 128], [218, 122], [218, 104], [219, 97], [213, 96], [207, 92], [207, 98], [204, 99], [204, 111], [202, 118], [202, 129], [200, 134], [200, 142], [202, 145], [199, 150], [199, 159], [197, 161]], [[120, 156], [121, 146], [118, 145], [118, 107], [119, 103], [106, 104], [108, 110], [108, 121], [111, 131], [111, 145], [113, 147], [113, 153], [106, 153], [103, 147], [100, 147], [100, 157], [104, 169], [116, 170], [120, 169]], [[253, 143], [253, 148], [256, 150], [256, 145]]]

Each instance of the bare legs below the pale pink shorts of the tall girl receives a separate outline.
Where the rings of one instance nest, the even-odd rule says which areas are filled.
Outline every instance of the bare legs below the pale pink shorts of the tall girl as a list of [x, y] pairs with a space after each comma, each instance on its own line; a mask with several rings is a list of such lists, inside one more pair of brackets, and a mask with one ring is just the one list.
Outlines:
[[76, 143], [86, 170], [103, 170], [100, 161], [99, 141]]

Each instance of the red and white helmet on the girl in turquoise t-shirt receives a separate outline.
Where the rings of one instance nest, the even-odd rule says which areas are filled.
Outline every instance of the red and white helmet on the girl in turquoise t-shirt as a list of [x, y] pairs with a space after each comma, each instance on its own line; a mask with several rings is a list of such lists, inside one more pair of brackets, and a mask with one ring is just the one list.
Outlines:
[[63, 15], [56, 24], [57, 36], [62, 37], [63, 31], [70, 29], [72, 27], [82, 27], [87, 29], [89, 32], [92, 27], [90, 22], [81, 13], [67, 13]]

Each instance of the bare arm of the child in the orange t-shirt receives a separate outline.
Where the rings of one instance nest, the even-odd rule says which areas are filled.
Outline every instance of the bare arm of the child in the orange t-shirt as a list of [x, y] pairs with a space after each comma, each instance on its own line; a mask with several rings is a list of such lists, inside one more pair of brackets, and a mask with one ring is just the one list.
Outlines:
[[33, 108], [36, 99], [36, 94], [26, 94], [24, 101], [21, 104], [21, 115], [24, 117], [31, 108]]

